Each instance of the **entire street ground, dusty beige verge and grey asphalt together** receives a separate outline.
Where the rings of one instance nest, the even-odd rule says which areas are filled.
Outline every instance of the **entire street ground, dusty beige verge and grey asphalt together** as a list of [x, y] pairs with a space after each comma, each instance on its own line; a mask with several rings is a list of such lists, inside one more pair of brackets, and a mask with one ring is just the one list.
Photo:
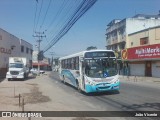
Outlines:
[[[15, 87], [15, 92], [14, 87]], [[47, 72], [25, 81], [0, 83], [0, 109], [21, 110], [18, 98], [21, 94], [26, 111], [160, 111], [160, 83], [133, 82], [121, 77], [120, 94], [106, 92], [86, 95], [74, 87], [63, 84], [56, 72]], [[95, 113], [97, 114], [97, 113]], [[105, 113], [107, 114], [107, 113]], [[108, 113], [111, 115], [111, 113]], [[99, 115], [99, 114], [98, 114]], [[112, 114], [113, 115], [113, 114]], [[144, 117], [91, 117], [91, 118], [37, 118], [33, 120], [152, 120]], [[17, 120], [17, 118], [15, 118]], [[159, 120], [155, 118], [154, 120]]]

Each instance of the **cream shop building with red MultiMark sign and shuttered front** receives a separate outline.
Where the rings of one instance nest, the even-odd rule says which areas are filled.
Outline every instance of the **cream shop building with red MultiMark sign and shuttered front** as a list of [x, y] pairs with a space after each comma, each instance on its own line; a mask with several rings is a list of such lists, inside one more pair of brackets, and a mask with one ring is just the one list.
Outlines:
[[160, 77], [160, 26], [129, 34], [128, 46], [122, 60], [130, 75]]

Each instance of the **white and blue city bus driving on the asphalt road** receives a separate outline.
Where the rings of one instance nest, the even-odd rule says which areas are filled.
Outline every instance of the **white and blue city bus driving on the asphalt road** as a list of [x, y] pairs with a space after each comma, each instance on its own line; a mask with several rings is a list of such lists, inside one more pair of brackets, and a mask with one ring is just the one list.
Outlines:
[[59, 59], [64, 83], [86, 93], [119, 91], [117, 61], [112, 50], [82, 51]]

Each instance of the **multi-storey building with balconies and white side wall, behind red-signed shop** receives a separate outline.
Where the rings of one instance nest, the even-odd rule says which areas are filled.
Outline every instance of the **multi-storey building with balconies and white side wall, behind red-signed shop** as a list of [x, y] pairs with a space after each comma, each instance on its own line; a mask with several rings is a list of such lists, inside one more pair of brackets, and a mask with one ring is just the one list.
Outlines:
[[160, 14], [138, 14], [132, 18], [112, 20], [106, 29], [106, 49], [117, 51], [121, 58], [121, 50], [129, 48], [128, 35], [140, 30], [160, 25]]

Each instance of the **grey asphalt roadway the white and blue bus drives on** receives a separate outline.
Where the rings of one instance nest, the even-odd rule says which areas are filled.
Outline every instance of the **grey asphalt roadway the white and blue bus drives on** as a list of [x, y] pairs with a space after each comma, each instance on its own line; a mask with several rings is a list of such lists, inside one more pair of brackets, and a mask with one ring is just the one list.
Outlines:
[[[139, 84], [122, 80], [120, 94], [106, 92], [86, 95], [78, 93], [75, 88], [61, 83], [58, 74], [55, 72], [51, 74], [51, 78], [65, 94], [70, 94], [73, 98], [76, 97], [79, 101], [83, 101], [82, 108], [84, 105], [84, 110], [160, 111], [160, 87], [158, 88], [158, 85], [155, 83], [153, 83], [155, 85], [149, 86], [149, 84], [143, 85], [142, 82]], [[67, 99], [76, 104], [76, 101], [73, 101], [72, 98]], [[150, 120], [151, 118], [139, 119]]]

